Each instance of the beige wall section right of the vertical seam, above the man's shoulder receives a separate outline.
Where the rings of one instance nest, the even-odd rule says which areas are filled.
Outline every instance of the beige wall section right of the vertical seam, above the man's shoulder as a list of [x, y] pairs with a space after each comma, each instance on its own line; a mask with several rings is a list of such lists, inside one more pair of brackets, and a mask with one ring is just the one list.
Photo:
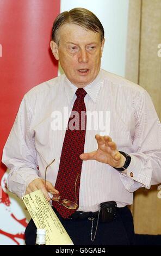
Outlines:
[[150, 93], [161, 120], [161, 1], [142, 1], [139, 83]]

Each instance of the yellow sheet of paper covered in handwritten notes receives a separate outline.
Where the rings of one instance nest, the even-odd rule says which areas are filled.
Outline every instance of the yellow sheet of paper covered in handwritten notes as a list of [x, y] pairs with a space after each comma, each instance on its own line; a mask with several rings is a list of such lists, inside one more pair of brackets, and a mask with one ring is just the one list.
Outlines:
[[73, 245], [41, 190], [22, 197], [36, 228], [46, 229], [46, 245]]

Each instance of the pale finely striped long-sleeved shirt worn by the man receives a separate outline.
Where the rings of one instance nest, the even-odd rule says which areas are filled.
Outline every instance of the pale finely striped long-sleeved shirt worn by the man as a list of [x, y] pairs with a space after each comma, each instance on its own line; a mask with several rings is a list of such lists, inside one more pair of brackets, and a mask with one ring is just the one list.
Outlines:
[[[84, 89], [84, 153], [97, 149], [96, 134], [109, 135], [132, 160], [125, 173], [95, 160], [83, 161], [78, 210], [97, 211], [100, 203], [110, 200], [118, 207], [130, 205], [139, 187], [161, 182], [161, 127], [153, 103], [145, 89], [104, 70]], [[44, 178], [53, 159], [46, 179], [54, 186], [76, 90], [61, 75], [24, 95], [2, 160], [10, 169], [8, 188], [18, 197], [31, 181]]]

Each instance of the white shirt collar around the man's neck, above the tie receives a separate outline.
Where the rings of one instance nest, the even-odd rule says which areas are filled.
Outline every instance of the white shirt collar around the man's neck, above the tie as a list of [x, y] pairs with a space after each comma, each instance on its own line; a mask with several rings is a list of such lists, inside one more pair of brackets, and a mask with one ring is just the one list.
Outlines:
[[[97, 101], [97, 96], [98, 96], [98, 93], [100, 92], [102, 81], [103, 80], [102, 80], [102, 75], [100, 70], [95, 80], [83, 88], [94, 102]], [[69, 79], [65, 76], [64, 89], [67, 95], [68, 102], [70, 104], [78, 88], [73, 83], [71, 83]]]

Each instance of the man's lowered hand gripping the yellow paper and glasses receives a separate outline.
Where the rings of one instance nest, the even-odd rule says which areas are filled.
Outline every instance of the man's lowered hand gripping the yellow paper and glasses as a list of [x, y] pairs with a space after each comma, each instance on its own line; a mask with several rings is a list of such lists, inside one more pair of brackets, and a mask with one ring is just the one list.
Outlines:
[[55, 190], [51, 182], [47, 180], [46, 180], [46, 187], [45, 187], [44, 179], [35, 179], [32, 182], [30, 182], [28, 184], [28, 187], [26, 188], [25, 194], [30, 194], [31, 192], [34, 192], [36, 190], [41, 190], [48, 201], [51, 199], [49, 198], [47, 191], [52, 191], [53, 194], [59, 194], [59, 191]]

